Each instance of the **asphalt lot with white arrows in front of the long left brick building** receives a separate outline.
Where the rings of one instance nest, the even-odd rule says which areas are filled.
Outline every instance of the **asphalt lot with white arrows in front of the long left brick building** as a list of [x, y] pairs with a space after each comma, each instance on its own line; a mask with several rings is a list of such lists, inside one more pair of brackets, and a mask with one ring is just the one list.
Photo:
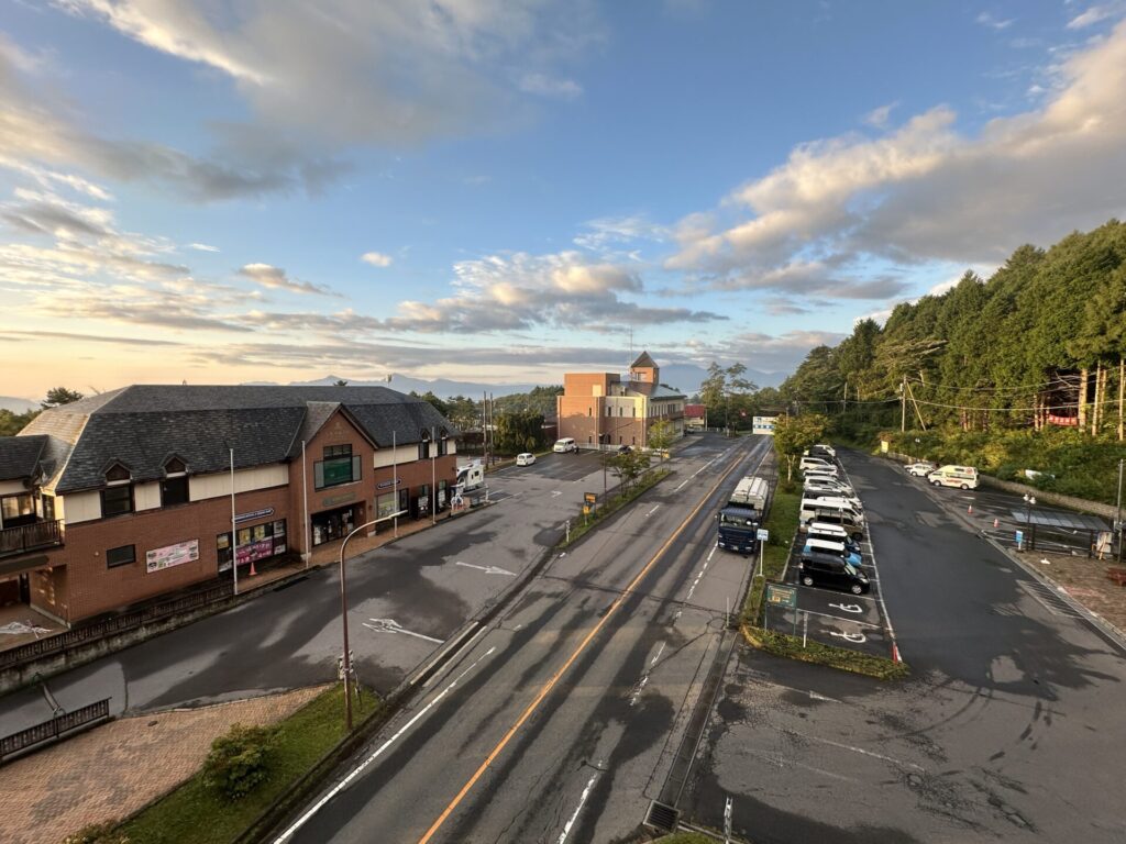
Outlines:
[[[597, 454], [551, 455], [490, 475], [494, 506], [349, 560], [350, 644], [360, 681], [384, 693], [394, 689], [538, 560], [583, 492], [600, 492], [602, 483]], [[388, 632], [379, 620], [406, 632]], [[195, 706], [333, 680], [340, 641], [338, 573], [320, 568], [47, 684], [66, 710], [107, 697], [113, 715]], [[52, 713], [39, 686], [8, 694], [0, 698], [0, 735]]]

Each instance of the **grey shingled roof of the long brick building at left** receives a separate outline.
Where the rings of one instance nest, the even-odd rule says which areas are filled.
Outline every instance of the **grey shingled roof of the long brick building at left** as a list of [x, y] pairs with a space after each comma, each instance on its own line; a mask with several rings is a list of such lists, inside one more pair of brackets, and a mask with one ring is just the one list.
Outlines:
[[134, 385], [83, 398], [44, 411], [27, 431], [59, 428], [51, 414], [86, 417], [55, 485], [66, 493], [101, 486], [115, 461], [134, 481], [163, 477], [173, 456], [191, 474], [222, 472], [231, 448], [236, 468], [282, 463], [300, 455], [301, 440], [307, 441], [337, 407], [379, 448], [391, 446], [392, 432], [399, 443], [419, 442], [431, 428], [458, 433], [428, 402], [387, 387], [187, 385]]

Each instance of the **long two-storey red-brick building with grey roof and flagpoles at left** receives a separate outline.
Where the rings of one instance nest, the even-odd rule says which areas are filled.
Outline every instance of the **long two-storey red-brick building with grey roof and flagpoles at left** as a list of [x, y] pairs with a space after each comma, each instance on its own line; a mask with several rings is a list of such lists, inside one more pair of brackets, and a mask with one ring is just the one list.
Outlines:
[[0, 438], [0, 604], [64, 622], [445, 509], [454, 427], [386, 387], [132, 386]]

